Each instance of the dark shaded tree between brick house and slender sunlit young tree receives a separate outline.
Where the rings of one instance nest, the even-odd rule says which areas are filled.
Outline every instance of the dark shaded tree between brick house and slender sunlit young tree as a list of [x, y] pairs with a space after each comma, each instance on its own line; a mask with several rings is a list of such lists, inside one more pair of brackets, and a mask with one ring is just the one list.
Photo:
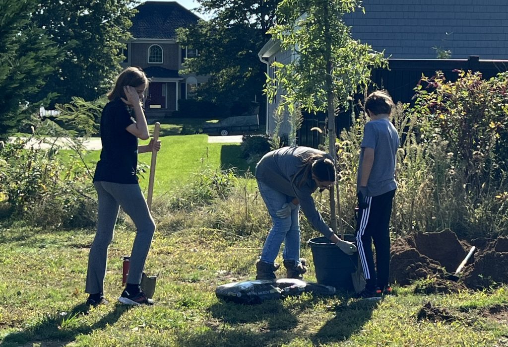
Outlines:
[[[178, 42], [194, 47], [199, 56], [186, 59], [189, 71], [210, 75], [198, 88], [198, 98], [222, 105], [262, 98], [266, 66], [258, 52], [268, 40], [278, 0], [198, 0], [209, 21], [178, 30]], [[261, 107], [260, 110], [264, 108]]]

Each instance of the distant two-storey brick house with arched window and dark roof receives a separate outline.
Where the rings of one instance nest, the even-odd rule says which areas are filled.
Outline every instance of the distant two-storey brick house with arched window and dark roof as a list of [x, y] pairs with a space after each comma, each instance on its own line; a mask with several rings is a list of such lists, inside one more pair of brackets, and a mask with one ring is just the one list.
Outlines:
[[130, 28], [133, 38], [126, 42], [122, 67], [138, 66], [150, 79], [147, 117], [167, 117], [178, 110], [178, 100], [192, 99], [198, 84], [207, 80], [180, 73], [184, 58], [198, 51], [176, 43], [176, 29], [195, 24], [200, 17], [177, 2], [147, 1], [136, 9]]

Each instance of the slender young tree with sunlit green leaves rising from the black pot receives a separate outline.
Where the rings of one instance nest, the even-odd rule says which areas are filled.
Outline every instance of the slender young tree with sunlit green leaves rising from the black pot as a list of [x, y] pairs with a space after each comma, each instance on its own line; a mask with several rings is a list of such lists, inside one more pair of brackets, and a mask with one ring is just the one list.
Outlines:
[[[368, 85], [371, 69], [386, 67], [383, 53], [353, 40], [342, 20], [345, 13], [363, 10], [355, 0], [283, 0], [277, 7], [277, 23], [268, 31], [292, 50], [296, 58], [283, 65], [274, 62], [275, 77], [267, 79], [268, 97], [279, 88], [285, 95], [278, 107], [289, 113], [301, 107], [309, 112], [326, 112], [329, 153], [336, 162], [336, 110], [350, 106], [359, 86]], [[338, 185], [337, 185], [338, 186]], [[337, 192], [337, 200], [338, 192]], [[331, 224], [337, 229], [334, 189], [330, 190]], [[339, 203], [340, 212], [340, 203]], [[342, 228], [341, 228], [342, 232]]]

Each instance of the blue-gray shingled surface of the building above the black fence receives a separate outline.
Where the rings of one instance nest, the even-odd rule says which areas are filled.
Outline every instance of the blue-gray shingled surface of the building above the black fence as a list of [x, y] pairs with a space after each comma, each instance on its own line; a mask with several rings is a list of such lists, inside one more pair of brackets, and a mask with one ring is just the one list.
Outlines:
[[435, 59], [438, 49], [454, 59], [508, 58], [506, 0], [365, 0], [344, 15], [354, 39], [392, 58]]

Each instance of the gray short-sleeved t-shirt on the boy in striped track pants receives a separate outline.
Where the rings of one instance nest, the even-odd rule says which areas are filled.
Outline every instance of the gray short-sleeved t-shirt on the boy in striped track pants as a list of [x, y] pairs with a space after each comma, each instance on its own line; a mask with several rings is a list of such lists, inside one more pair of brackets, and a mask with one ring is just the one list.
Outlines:
[[367, 183], [367, 196], [375, 197], [397, 189], [395, 164], [399, 135], [393, 124], [387, 118], [367, 122], [361, 147], [357, 187], [362, 177], [364, 148], [368, 147], [374, 149], [374, 163]]

